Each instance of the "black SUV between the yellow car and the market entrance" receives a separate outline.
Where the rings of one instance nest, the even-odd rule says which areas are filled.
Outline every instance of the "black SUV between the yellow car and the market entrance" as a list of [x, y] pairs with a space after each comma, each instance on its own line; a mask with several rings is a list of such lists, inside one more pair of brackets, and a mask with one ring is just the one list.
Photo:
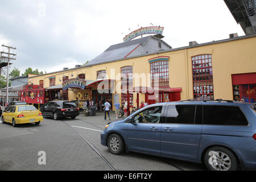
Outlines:
[[64, 117], [75, 119], [79, 115], [79, 107], [73, 101], [49, 101], [40, 107], [40, 111], [43, 117], [51, 117], [55, 120]]

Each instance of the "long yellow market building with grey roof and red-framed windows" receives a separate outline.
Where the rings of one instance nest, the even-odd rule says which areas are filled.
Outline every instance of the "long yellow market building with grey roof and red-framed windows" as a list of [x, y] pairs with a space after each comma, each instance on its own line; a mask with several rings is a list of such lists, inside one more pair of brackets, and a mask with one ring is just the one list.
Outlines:
[[[156, 49], [150, 48], [152, 44]], [[28, 82], [49, 91], [48, 100], [93, 100], [100, 105], [105, 100], [112, 105], [129, 100], [135, 107], [141, 101], [188, 99], [255, 102], [255, 34], [189, 44], [171, 48], [156, 36], [130, 40], [110, 46], [89, 64], [31, 76]], [[145, 46], [149, 51], [143, 52]], [[75, 80], [84, 81], [84, 88]]]

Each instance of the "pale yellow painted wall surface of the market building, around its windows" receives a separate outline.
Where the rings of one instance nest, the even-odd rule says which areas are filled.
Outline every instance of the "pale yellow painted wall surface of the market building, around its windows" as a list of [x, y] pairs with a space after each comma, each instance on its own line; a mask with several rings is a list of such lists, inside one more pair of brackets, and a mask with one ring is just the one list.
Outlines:
[[[256, 36], [251, 38], [232, 40], [222, 43], [208, 44], [198, 47], [187, 47], [174, 49], [172, 51], [135, 57], [112, 63], [94, 65], [88, 68], [79, 68], [75, 71], [63, 71], [60, 73], [48, 73], [43, 76], [29, 77], [33, 84], [39, 84], [39, 80], [44, 80], [44, 88], [49, 87], [49, 76], [56, 76], [56, 85], [62, 84], [62, 77], [69, 76], [75, 78], [80, 73], [85, 73], [86, 80], [96, 80], [97, 71], [106, 70], [108, 78], [115, 79], [115, 92], [119, 93], [121, 101], [121, 67], [133, 66], [133, 74], [150, 73], [150, 64], [148, 59], [158, 56], [170, 56], [169, 59], [169, 82], [171, 88], [181, 88], [181, 100], [193, 98], [193, 81], [192, 81], [192, 61], [191, 57], [202, 54], [212, 55], [213, 67], [213, 88], [214, 99], [222, 98], [224, 100], [233, 100], [232, 91], [232, 74], [256, 72]], [[111, 75], [111, 69], [114, 74]], [[73, 73], [73, 77], [71, 77]], [[59, 81], [61, 79], [61, 81]], [[141, 81], [140, 86], [147, 85], [147, 81]], [[135, 81], [134, 81], [134, 86]], [[81, 91], [85, 93], [87, 91]], [[136, 106], [137, 94], [134, 94], [134, 106]], [[69, 92], [69, 100], [75, 100], [75, 94]], [[144, 94], [139, 94], [139, 102], [145, 101]]]

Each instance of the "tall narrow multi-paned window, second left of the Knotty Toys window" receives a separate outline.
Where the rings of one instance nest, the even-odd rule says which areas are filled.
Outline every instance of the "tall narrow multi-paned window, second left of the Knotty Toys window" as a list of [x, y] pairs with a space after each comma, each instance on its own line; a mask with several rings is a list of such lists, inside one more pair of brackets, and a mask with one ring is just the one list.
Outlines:
[[[133, 67], [126, 66], [121, 68], [121, 90], [122, 90], [122, 101], [127, 101], [127, 93], [123, 93], [123, 91], [128, 90], [129, 88], [133, 88]], [[133, 107], [133, 93], [130, 93], [130, 106]]]

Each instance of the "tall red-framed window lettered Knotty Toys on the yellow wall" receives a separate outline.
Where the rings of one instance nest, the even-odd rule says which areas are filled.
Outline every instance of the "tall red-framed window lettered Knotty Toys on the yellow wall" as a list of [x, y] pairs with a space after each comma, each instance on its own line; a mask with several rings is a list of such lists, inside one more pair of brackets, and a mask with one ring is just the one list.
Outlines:
[[193, 97], [197, 100], [213, 100], [212, 55], [192, 57]]

